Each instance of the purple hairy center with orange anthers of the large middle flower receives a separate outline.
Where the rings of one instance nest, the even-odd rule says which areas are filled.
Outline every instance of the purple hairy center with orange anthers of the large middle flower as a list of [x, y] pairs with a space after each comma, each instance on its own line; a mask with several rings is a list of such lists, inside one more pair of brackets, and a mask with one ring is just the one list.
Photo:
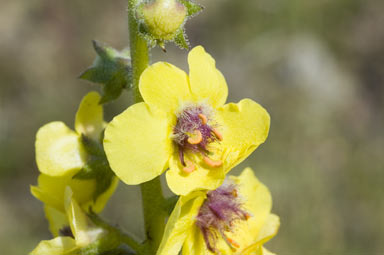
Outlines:
[[185, 152], [201, 154], [209, 167], [220, 167], [220, 160], [211, 159], [208, 145], [223, 140], [223, 136], [213, 122], [213, 109], [206, 104], [187, 105], [177, 114], [173, 129], [173, 141], [178, 146], [179, 158], [186, 173], [196, 170], [194, 162], [184, 158]]

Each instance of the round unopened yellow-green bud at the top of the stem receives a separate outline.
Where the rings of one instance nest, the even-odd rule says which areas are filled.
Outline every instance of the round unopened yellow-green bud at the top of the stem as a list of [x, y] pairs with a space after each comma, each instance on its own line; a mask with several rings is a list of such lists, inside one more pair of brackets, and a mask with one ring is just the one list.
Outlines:
[[147, 32], [159, 41], [173, 40], [187, 17], [187, 8], [177, 0], [155, 0], [140, 9]]

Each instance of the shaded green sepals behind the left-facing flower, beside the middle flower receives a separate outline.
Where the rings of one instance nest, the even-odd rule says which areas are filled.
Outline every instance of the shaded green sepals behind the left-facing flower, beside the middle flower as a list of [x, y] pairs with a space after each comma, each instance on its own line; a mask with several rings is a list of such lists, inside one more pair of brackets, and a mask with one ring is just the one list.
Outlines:
[[83, 168], [72, 178], [79, 180], [94, 179], [96, 181], [96, 189], [93, 194], [93, 200], [96, 201], [111, 186], [115, 174], [109, 166], [100, 142], [85, 135], [81, 136], [81, 141], [85, 151], [88, 153], [88, 160]]

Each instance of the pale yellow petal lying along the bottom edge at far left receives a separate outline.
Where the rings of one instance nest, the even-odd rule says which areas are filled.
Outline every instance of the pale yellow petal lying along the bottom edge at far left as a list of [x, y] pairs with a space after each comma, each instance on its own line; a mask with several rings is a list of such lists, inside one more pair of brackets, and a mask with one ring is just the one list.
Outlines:
[[48, 241], [41, 241], [30, 255], [74, 255], [76, 242], [71, 237], [56, 237]]

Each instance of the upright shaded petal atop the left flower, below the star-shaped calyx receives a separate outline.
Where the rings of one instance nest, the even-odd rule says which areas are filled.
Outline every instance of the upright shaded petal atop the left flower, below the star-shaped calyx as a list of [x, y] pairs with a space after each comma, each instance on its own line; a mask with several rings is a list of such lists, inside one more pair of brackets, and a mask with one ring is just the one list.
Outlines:
[[104, 128], [103, 107], [99, 104], [100, 98], [99, 93], [89, 92], [81, 100], [75, 120], [76, 132], [95, 140], [100, 139], [100, 134]]

